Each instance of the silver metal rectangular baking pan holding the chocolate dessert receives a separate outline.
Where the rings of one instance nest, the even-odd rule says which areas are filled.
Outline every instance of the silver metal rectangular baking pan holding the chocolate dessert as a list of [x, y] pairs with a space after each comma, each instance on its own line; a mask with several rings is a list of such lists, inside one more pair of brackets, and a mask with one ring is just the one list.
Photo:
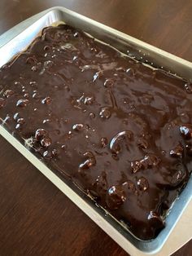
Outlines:
[[[33, 42], [34, 38], [41, 33], [41, 29], [61, 21], [84, 30], [94, 38], [110, 44], [124, 54], [141, 60], [143, 63], [150, 64], [154, 68], [163, 68], [177, 76], [192, 80], [192, 64], [190, 62], [63, 7], [54, 7], [42, 11], [16, 25], [13, 29], [7, 31], [7, 33], [4, 33], [0, 37], [0, 67], [11, 60], [14, 55], [20, 51], [24, 51]], [[107, 214], [101, 207], [95, 204], [89, 196], [85, 196], [71, 181], [65, 179], [65, 177], [55, 172], [55, 170], [50, 170], [24, 146], [24, 142], [22, 143], [18, 139], [15, 139], [3, 126], [0, 126], [0, 135], [17, 148], [28, 161], [33, 163], [33, 166], [36, 166], [52, 183], [55, 183], [89, 218], [92, 218], [99, 227], [103, 228], [111, 238], [131, 255], [159, 255], [159, 251], [161, 251], [165, 242], [168, 241], [168, 236], [178, 224], [181, 215], [184, 214], [185, 208], [189, 205], [190, 201], [192, 202], [191, 176], [189, 183], [181, 192], [179, 198], [173, 203], [172, 209], [166, 218], [166, 227], [164, 230], [154, 240], [138, 240], [117, 222], [115, 218], [112, 218], [110, 214]]]

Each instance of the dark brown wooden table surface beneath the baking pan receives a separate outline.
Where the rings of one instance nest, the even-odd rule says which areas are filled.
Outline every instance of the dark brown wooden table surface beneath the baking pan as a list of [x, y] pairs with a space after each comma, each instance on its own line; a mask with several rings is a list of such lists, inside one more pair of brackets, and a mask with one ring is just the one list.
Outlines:
[[[192, 61], [191, 0], [0, 0], [0, 34], [54, 6]], [[192, 241], [174, 256], [191, 250]], [[0, 137], [0, 255], [126, 254]]]

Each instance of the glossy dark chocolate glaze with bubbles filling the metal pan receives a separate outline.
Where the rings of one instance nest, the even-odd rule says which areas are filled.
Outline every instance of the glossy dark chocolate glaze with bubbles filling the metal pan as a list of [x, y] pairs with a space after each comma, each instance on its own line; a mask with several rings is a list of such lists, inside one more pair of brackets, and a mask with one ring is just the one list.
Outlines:
[[8, 130], [135, 236], [157, 236], [190, 177], [190, 82], [68, 25], [44, 29], [0, 81]]

